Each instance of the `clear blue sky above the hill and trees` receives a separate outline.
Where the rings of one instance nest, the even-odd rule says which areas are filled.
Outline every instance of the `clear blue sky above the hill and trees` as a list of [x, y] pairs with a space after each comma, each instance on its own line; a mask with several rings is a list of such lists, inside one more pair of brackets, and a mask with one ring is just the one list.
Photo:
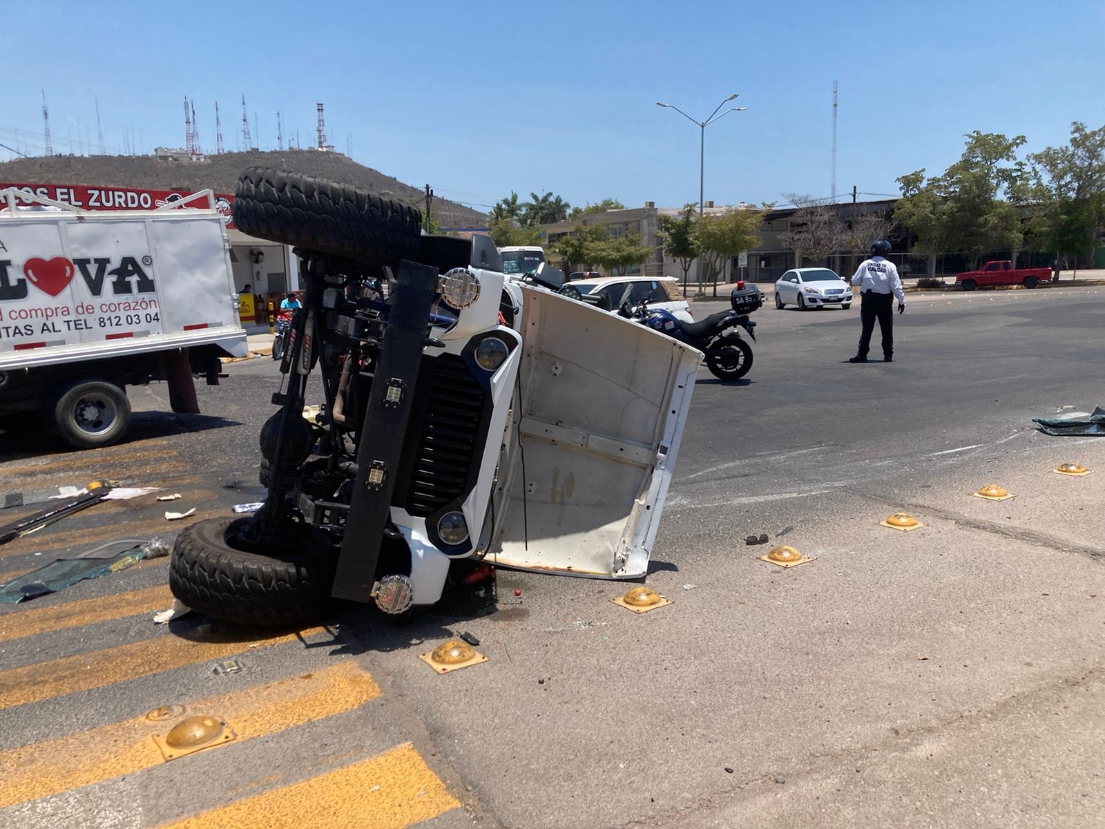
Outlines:
[[[974, 129], [1062, 144], [1105, 124], [1105, 2], [104, 2], [9, 0], [0, 141], [42, 153], [183, 146], [185, 96], [206, 150], [214, 102], [228, 149], [241, 96], [262, 148], [296, 130], [357, 161], [485, 209], [511, 190], [572, 204], [611, 197], [782, 202], [830, 193], [832, 83], [840, 84], [836, 190], [896, 193], [943, 171]], [[256, 123], [254, 123], [256, 113]], [[11, 154], [0, 149], [0, 159]], [[104, 182], [110, 183], [110, 182]]]

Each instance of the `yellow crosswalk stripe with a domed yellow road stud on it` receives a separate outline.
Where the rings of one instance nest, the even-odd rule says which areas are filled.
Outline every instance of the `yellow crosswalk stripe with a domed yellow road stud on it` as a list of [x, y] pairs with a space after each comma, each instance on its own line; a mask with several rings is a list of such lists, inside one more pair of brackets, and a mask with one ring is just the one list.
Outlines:
[[[372, 678], [348, 661], [315, 673], [188, 703], [173, 720], [151, 722], [145, 715], [136, 716], [14, 748], [0, 753], [3, 780], [0, 808], [158, 766], [165, 759], [152, 736], [166, 734], [186, 716], [202, 714], [221, 720], [238, 735], [234, 742], [240, 743], [352, 711], [379, 695], [380, 688]], [[225, 745], [230, 748], [233, 744]]]

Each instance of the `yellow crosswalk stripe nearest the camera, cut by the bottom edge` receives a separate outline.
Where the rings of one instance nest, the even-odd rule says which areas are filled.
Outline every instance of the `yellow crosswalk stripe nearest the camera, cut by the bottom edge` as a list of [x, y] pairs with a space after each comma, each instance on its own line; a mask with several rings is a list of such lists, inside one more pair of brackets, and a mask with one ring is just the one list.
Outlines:
[[403, 829], [460, 805], [422, 756], [406, 743], [361, 763], [168, 823], [162, 829], [245, 826]]

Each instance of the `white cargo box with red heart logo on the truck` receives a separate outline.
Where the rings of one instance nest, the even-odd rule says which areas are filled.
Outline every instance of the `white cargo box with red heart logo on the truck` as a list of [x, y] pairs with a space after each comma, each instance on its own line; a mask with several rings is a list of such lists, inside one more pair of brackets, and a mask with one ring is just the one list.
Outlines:
[[7, 203], [0, 369], [204, 344], [248, 353], [213, 209], [108, 213]]

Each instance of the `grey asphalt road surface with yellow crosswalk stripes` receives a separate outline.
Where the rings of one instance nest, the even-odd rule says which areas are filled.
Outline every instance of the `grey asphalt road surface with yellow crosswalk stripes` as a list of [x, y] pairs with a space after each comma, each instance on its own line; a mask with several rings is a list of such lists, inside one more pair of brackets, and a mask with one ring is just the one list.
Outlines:
[[[699, 372], [649, 577], [674, 604], [646, 615], [611, 604], [624, 585], [501, 571], [406, 627], [356, 605], [283, 639], [155, 627], [164, 558], [0, 606], [0, 821], [1099, 826], [1105, 440], [1031, 419], [1105, 405], [1103, 316], [1105, 287], [909, 294], [896, 361], [850, 365], [855, 308], [757, 312], [746, 380]], [[180, 492], [193, 520], [259, 500], [275, 364], [228, 372], [203, 416], [136, 389], [125, 445], [0, 434], [2, 489], [113, 478]], [[1069, 460], [1097, 472], [1051, 472]], [[1015, 497], [970, 496], [989, 483]], [[4, 545], [0, 581], [171, 537], [165, 508], [101, 504]], [[899, 510], [925, 526], [877, 525]], [[782, 543], [815, 560], [758, 560]], [[417, 659], [461, 631], [490, 662]], [[215, 674], [225, 659], [242, 670]], [[164, 762], [143, 714], [173, 703], [234, 741]]]

